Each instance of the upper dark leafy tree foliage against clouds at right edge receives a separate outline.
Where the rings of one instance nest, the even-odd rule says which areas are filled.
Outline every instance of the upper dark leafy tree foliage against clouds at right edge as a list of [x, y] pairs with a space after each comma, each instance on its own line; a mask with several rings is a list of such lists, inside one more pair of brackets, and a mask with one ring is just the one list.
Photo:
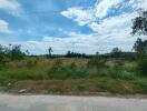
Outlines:
[[147, 34], [147, 11], [133, 20], [133, 34]]

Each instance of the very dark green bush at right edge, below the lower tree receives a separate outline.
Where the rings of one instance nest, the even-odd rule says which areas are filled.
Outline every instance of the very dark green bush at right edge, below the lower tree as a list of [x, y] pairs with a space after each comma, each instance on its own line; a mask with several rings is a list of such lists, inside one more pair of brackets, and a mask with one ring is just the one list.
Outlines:
[[141, 59], [137, 64], [137, 71], [139, 74], [147, 77], [147, 58]]

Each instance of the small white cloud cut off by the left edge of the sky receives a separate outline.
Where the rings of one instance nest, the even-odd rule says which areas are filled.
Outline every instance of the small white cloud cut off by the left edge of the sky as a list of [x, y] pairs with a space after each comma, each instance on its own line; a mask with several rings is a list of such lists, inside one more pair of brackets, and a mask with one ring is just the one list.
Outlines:
[[10, 33], [9, 23], [0, 19], [0, 32]]

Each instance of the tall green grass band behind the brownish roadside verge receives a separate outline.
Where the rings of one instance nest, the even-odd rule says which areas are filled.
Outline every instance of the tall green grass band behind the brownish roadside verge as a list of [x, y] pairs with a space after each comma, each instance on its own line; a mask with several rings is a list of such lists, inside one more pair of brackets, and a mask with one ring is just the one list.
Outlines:
[[[135, 75], [135, 67], [126, 67], [122, 60], [107, 63], [106, 59], [26, 59], [0, 65], [2, 79], [16, 80], [67, 80], [91, 79], [110, 77], [115, 79], [131, 80]], [[84, 63], [82, 63], [84, 62]]]

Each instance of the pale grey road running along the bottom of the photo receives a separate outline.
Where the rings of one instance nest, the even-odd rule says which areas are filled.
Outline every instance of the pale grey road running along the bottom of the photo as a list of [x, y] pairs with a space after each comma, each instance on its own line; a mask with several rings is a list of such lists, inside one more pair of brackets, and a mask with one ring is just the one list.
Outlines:
[[147, 99], [0, 94], [0, 111], [147, 111]]

